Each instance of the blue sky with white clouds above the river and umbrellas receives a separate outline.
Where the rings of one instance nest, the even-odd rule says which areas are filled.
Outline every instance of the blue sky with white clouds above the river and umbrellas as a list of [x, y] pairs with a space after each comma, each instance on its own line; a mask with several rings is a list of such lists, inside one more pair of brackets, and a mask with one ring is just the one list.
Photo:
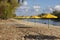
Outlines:
[[53, 10], [60, 11], [60, 0], [25, 0], [16, 9], [18, 16], [39, 15], [43, 12], [51, 13]]

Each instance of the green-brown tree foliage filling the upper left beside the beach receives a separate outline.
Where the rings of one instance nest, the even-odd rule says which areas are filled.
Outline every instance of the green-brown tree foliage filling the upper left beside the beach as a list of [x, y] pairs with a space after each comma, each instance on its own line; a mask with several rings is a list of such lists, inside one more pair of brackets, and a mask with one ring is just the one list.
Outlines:
[[0, 18], [12, 18], [17, 6], [19, 6], [17, 0], [0, 0]]

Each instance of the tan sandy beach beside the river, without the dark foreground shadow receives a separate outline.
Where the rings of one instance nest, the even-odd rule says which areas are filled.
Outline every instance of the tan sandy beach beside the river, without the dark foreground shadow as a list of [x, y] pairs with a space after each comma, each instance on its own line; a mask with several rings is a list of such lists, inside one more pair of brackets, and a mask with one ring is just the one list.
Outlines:
[[[42, 38], [44, 38], [44, 36], [47, 35], [52, 38], [51, 40], [53, 40], [54, 38], [59, 39], [60, 38], [59, 30], [60, 30], [60, 26], [49, 25], [48, 28], [47, 24], [33, 23], [23, 20], [16, 20], [16, 19], [9, 19], [7, 21], [2, 20], [0, 21], [0, 40], [25, 40], [24, 38], [26, 37], [24, 36], [26, 35], [28, 36], [42, 35], [43, 36]], [[35, 36], [32, 37], [35, 38]], [[46, 40], [48, 40], [48, 38]], [[35, 40], [37, 40], [37, 38]]]

